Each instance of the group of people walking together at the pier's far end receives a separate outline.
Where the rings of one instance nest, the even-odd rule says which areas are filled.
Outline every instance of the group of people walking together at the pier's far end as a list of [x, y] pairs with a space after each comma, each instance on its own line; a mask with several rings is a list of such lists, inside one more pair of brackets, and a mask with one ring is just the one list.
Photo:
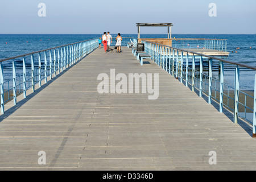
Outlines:
[[[104, 46], [104, 52], [108, 52], [110, 48], [110, 44], [113, 42], [112, 35], [110, 35], [110, 32], [104, 32], [100, 39], [98, 39], [99, 47], [101, 48], [101, 43]], [[115, 38], [115, 48], [117, 49], [117, 52], [121, 52], [121, 45], [122, 45], [122, 37], [121, 34], [117, 34], [117, 38]]]

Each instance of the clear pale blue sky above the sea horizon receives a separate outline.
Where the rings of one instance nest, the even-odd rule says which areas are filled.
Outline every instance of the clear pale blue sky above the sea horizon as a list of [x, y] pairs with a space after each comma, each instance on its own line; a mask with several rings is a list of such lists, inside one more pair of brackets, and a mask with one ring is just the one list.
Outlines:
[[[136, 23], [160, 22], [174, 23], [172, 34], [256, 34], [256, 1], [0, 0], [0, 34], [137, 34]], [[141, 27], [141, 34], [166, 33]]]

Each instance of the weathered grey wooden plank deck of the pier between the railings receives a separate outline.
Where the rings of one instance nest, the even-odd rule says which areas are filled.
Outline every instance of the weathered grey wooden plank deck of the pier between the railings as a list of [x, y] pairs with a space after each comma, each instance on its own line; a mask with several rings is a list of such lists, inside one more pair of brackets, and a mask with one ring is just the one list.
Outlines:
[[[0, 170], [255, 170], [256, 140], [152, 61], [96, 49], [0, 116]], [[159, 97], [99, 94], [100, 73], [159, 73]], [[21, 96], [22, 97], [22, 96]], [[39, 151], [46, 164], [39, 165]], [[209, 152], [217, 164], [209, 164]]]

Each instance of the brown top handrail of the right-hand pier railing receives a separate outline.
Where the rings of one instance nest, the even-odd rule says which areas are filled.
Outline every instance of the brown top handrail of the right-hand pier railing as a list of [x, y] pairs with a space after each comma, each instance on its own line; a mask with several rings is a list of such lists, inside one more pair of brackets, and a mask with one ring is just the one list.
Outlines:
[[[142, 40], [143, 40], [143, 39], [142, 39]], [[171, 47], [171, 46], [166, 46], [166, 45], [163, 45], [163, 44], [159, 44], [159, 43], [155, 43], [155, 42], [150, 42], [150, 41], [147, 41], [147, 40], [143, 40], [143, 41], [144, 41], [144, 42], [148, 42], [148, 43], [152, 43], [152, 44], [158, 44], [159, 46], [164, 46], [164, 47], [176, 49], [176, 50], [178, 50], [178, 51], [183, 51], [183, 52], [187, 52], [187, 53], [192, 53], [192, 54], [194, 54], [194, 55], [209, 57], [209, 59], [214, 59], [214, 60], [223, 61], [224, 63], [234, 64], [234, 65], [238, 65], [238, 66], [241, 66], [241, 67], [245, 67], [245, 68], [249, 68], [249, 69], [256, 70], [256, 67], [252, 67], [252, 66], [247, 65], [247, 64], [236, 63], [236, 62], [234, 62], [234, 61], [228, 61], [228, 60], [225, 60], [225, 59], [222, 59], [222, 58], [219, 58], [219, 57], [204, 55], [203, 53], [188, 51], [188, 50], [185, 50], [185, 49], [174, 48], [174, 47]]]

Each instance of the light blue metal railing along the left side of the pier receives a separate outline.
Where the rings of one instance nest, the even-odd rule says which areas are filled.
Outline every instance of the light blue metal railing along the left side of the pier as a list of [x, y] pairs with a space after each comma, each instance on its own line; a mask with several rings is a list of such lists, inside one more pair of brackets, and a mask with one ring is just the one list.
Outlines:
[[[48, 79], [51, 80], [71, 67], [97, 47], [98, 38], [95, 38], [0, 60], [1, 113], [5, 113], [6, 102], [13, 100], [16, 105], [16, 97], [19, 94], [23, 93], [26, 98], [28, 89], [35, 92], [36, 84], [40, 88], [43, 80], [47, 83]], [[22, 69], [16, 67], [18, 61], [22, 62]], [[10, 62], [12, 68], [8, 72], [3, 65]], [[11, 75], [10, 78], [8, 75]]]

